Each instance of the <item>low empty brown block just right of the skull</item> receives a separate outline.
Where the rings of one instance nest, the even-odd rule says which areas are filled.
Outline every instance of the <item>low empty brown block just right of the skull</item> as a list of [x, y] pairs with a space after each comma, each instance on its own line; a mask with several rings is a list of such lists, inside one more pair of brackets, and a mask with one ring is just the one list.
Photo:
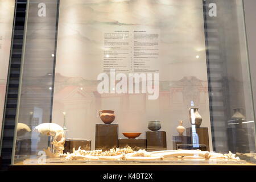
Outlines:
[[65, 139], [64, 144], [64, 153], [73, 153], [73, 148], [78, 150], [81, 147], [81, 150], [90, 150], [91, 140], [89, 139], [80, 139], [80, 138], [67, 138]]

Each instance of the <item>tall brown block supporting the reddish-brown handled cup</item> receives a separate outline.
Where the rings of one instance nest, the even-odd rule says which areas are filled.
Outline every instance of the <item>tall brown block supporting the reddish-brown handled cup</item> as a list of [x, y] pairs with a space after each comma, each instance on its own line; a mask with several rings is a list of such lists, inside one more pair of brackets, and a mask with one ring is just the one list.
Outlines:
[[118, 125], [96, 124], [96, 150], [110, 150], [118, 147]]

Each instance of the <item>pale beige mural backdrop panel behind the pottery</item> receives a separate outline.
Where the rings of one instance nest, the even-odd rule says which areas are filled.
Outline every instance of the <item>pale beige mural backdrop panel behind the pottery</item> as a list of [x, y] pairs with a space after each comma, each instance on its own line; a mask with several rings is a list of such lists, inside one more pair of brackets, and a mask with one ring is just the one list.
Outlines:
[[[110, 68], [159, 74], [159, 97], [100, 94], [97, 77]], [[60, 1], [52, 122], [63, 126], [65, 112], [68, 138], [92, 139], [93, 149], [97, 112], [114, 110], [119, 138], [125, 131], [144, 138], [148, 121], [159, 120], [172, 149], [178, 121], [191, 127], [191, 104], [210, 129], [201, 0]]]

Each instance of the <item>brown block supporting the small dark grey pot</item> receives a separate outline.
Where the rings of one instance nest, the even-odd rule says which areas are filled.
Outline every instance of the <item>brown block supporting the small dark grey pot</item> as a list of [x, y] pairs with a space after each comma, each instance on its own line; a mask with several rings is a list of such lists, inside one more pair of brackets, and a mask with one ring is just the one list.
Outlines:
[[166, 131], [147, 131], [147, 151], [166, 150]]

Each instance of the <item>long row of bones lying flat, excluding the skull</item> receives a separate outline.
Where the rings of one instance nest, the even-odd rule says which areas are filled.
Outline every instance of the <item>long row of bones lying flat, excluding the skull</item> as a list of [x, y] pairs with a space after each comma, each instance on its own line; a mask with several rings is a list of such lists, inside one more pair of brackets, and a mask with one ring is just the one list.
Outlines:
[[240, 160], [235, 154], [220, 154], [201, 150], [133, 151], [130, 147], [110, 151], [85, 151], [73, 148], [73, 153], [61, 155], [66, 160]]

